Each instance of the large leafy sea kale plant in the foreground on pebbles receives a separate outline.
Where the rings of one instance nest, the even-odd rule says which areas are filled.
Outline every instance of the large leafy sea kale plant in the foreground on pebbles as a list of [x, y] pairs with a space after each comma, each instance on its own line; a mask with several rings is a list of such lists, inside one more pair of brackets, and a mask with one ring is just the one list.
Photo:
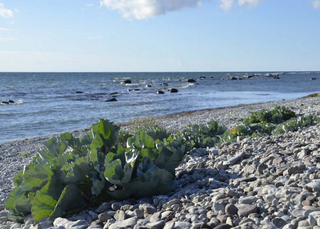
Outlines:
[[[184, 145], [154, 140], [145, 132], [119, 145], [119, 127], [100, 119], [83, 138], [65, 133], [43, 143], [13, 179], [5, 200], [10, 219], [32, 214], [54, 220], [98, 205], [112, 197], [143, 198], [171, 191], [174, 169], [184, 157]], [[127, 134], [123, 134], [126, 135]], [[176, 146], [176, 148], [175, 148]]]

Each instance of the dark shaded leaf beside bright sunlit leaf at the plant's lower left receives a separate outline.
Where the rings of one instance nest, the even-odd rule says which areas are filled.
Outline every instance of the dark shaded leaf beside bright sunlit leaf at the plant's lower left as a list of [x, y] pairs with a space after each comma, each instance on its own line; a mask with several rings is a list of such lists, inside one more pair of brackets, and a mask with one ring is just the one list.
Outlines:
[[49, 216], [49, 220], [55, 220], [58, 217], [74, 214], [84, 206], [81, 192], [76, 184], [68, 184], [62, 191], [56, 206]]

